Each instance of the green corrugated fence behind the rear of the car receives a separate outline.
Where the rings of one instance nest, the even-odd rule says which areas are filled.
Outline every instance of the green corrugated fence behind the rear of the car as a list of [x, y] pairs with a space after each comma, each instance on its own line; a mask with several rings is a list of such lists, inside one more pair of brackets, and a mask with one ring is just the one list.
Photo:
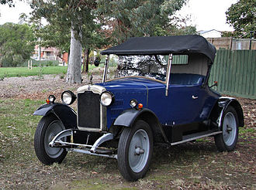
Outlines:
[[256, 50], [217, 50], [209, 85], [220, 93], [256, 99]]

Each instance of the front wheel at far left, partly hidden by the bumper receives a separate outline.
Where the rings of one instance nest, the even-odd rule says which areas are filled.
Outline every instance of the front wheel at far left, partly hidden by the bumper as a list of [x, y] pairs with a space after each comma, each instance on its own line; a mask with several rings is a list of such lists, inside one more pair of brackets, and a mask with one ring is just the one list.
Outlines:
[[65, 127], [61, 120], [58, 120], [52, 114], [42, 117], [37, 125], [34, 148], [37, 158], [44, 165], [51, 165], [54, 162], [61, 163], [66, 157], [67, 151], [64, 148], [51, 148], [49, 146], [53, 137], [63, 130], [65, 130]]

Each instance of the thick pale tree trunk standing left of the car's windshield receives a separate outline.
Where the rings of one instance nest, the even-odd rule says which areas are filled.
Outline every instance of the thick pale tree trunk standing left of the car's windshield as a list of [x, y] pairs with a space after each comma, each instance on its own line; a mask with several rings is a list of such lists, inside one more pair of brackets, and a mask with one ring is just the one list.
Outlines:
[[[66, 83], [81, 83], [81, 41], [75, 39], [77, 32], [71, 27], [71, 49], [68, 60]], [[81, 36], [81, 32], [80, 32]]]

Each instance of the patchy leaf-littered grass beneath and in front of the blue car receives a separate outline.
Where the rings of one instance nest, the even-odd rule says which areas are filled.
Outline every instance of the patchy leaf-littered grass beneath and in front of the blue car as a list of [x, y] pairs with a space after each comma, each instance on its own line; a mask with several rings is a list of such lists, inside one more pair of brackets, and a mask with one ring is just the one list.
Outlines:
[[60, 165], [42, 165], [33, 150], [41, 118], [33, 111], [42, 103], [0, 99], [0, 189], [255, 188], [254, 144], [243, 137], [239, 141], [244, 144], [224, 153], [216, 151], [213, 139], [155, 147], [146, 177], [137, 182], [123, 180], [111, 158], [68, 153]]

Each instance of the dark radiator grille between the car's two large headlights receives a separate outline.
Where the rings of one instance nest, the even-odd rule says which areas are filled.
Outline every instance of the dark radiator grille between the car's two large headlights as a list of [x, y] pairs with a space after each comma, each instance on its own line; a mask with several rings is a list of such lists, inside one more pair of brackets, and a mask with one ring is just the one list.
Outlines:
[[78, 93], [78, 127], [100, 128], [99, 93]]

